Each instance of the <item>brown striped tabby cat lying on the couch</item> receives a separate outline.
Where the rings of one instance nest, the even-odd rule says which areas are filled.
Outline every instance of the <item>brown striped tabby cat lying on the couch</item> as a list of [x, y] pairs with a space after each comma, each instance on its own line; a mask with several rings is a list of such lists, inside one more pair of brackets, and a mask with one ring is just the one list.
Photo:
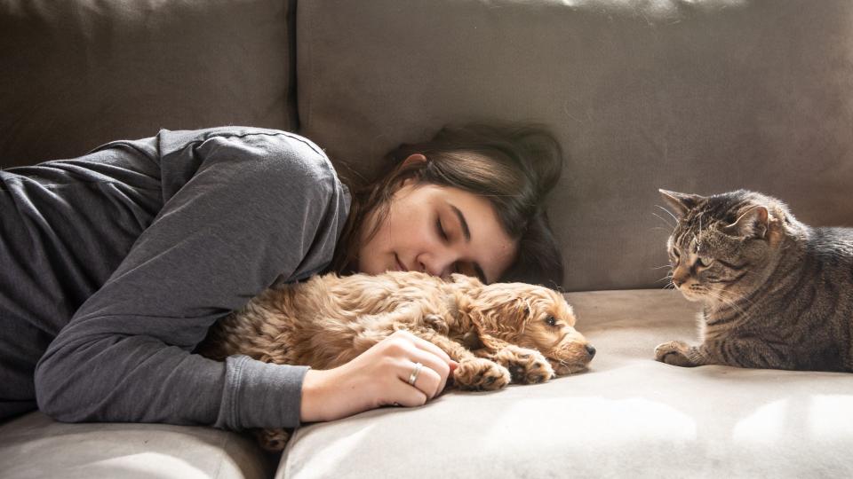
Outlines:
[[665, 342], [658, 361], [853, 371], [853, 229], [809, 227], [758, 192], [660, 192], [678, 216], [672, 284], [703, 310], [702, 343]]

